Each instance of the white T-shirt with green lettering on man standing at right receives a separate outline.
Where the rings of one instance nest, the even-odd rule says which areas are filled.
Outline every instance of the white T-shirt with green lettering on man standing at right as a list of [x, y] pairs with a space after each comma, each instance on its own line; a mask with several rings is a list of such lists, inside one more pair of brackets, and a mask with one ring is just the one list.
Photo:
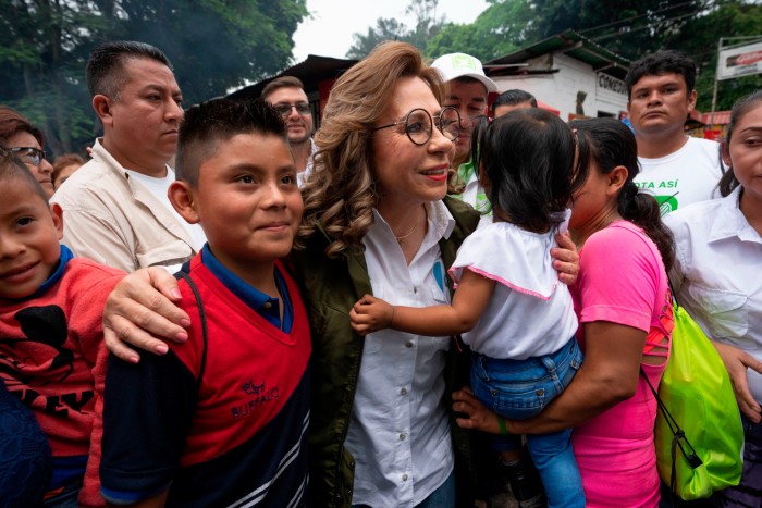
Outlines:
[[720, 197], [720, 144], [688, 137], [683, 148], [659, 159], [639, 157], [638, 188], [653, 195], [662, 216], [693, 202]]

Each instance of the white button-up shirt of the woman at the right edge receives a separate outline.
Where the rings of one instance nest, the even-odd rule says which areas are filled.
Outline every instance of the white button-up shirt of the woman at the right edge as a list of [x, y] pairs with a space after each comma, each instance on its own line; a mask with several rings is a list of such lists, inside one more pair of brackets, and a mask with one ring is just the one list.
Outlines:
[[[664, 218], [677, 248], [669, 278], [677, 301], [710, 338], [762, 360], [762, 237], [738, 208], [739, 196], [737, 187]], [[762, 402], [762, 375], [747, 372]]]

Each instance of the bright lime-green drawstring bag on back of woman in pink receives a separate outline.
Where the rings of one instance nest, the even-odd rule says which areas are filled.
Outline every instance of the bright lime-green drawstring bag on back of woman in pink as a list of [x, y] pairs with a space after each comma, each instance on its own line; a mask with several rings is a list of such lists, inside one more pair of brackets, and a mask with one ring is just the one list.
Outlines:
[[743, 428], [717, 350], [675, 305], [669, 361], [659, 385], [655, 445], [659, 474], [685, 500], [738, 485]]

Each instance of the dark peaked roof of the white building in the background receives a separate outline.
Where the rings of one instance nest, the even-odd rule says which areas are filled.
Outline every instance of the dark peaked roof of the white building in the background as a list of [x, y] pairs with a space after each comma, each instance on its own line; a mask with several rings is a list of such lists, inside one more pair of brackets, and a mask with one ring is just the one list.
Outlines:
[[[630, 64], [628, 59], [609, 51], [575, 30], [568, 29], [513, 53], [491, 60], [484, 64], [484, 69], [488, 76], [526, 74], [527, 69], [516, 66], [516, 64], [551, 52], [568, 54], [591, 65], [595, 72], [603, 72], [618, 79], [625, 78]], [[541, 72], [548, 72], [548, 70]]]

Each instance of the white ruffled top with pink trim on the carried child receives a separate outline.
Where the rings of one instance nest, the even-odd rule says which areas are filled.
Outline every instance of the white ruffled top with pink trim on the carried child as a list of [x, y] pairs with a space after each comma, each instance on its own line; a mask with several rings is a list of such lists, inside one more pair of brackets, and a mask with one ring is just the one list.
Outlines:
[[490, 358], [526, 360], [569, 342], [577, 318], [572, 294], [553, 268], [557, 231], [532, 233], [494, 222], [465, 239], [450, 269], [453, 280], [470, 270], [495, 281], [487, 309], [474, 330], [463, 334], [471, 349]]

